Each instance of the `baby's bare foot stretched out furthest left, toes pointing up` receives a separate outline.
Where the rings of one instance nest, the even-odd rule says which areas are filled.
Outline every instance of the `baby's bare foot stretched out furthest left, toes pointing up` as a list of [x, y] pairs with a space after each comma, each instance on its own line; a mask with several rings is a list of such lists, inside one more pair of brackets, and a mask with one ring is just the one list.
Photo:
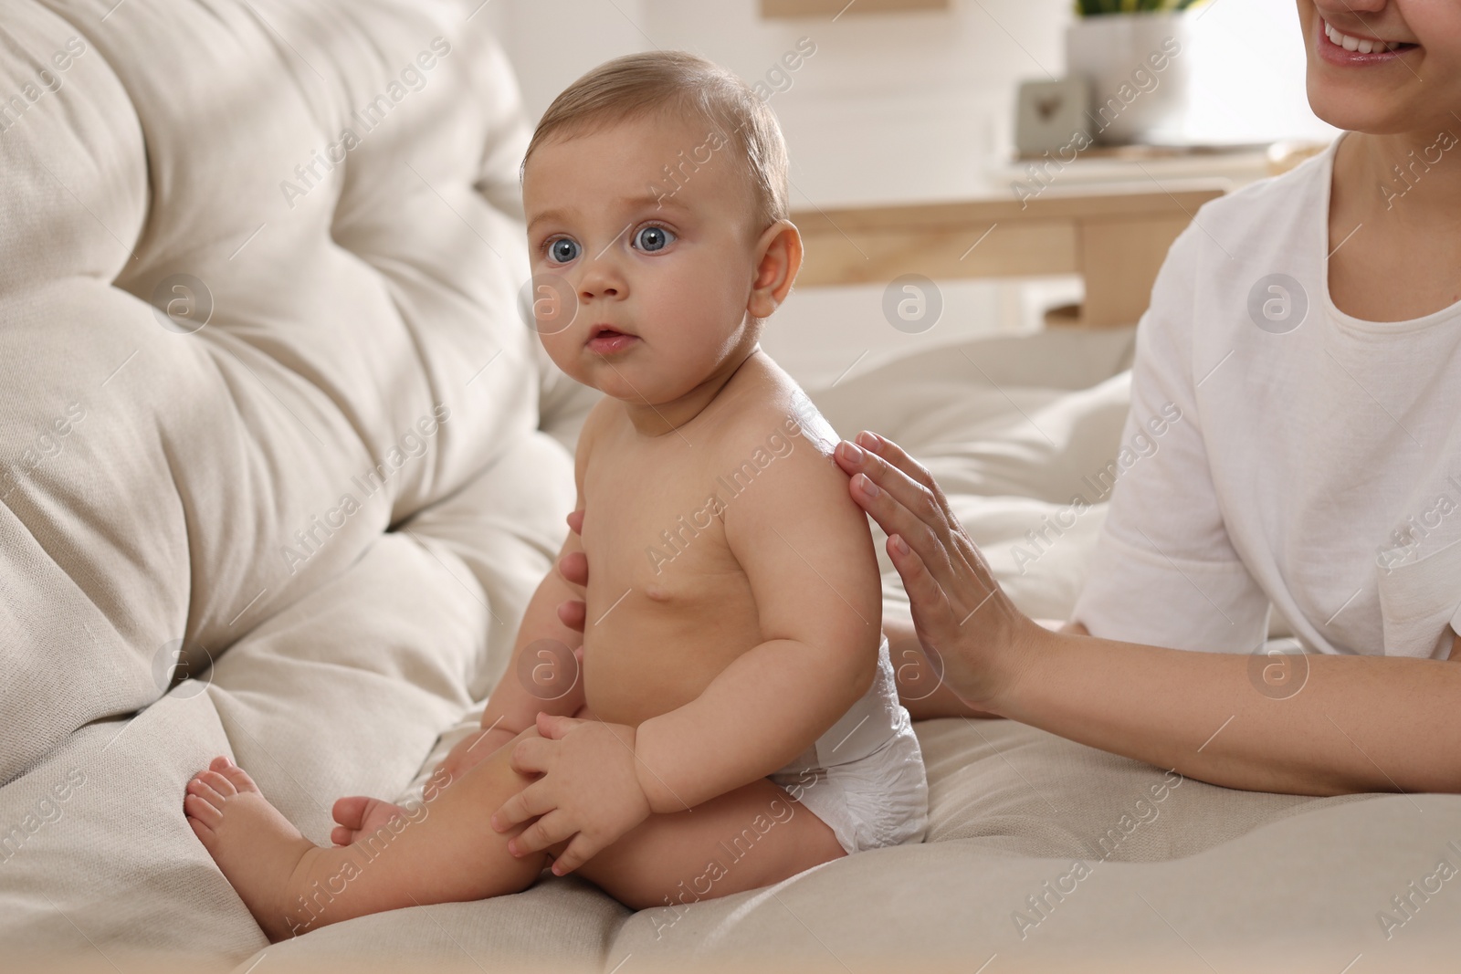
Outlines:
[[269, 939], [289, 936], [289, 891], [323, 850], [269, 805], [254, 780], [228, 758], [213, 758], [207, 771], [187, 783], [183, 810]]

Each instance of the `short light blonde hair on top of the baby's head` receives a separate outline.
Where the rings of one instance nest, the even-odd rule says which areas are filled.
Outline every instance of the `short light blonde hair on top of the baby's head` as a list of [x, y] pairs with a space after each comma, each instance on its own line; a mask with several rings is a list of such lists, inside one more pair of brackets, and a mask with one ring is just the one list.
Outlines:
[[[628, 54], [576, 80], [543, 112], [523, 155], [523, 171], [533, 150], [555, 136], [581, 134], [656, 111], [698, 115], [735, 147], [751, 177], [757, 231], [787, 218], [786, 140], [776, 115], [739, 77], [685, 51]], [[675, 159], [665, 162], [675, 168]], [[656, 172], [655, 178], [663, 177]]]

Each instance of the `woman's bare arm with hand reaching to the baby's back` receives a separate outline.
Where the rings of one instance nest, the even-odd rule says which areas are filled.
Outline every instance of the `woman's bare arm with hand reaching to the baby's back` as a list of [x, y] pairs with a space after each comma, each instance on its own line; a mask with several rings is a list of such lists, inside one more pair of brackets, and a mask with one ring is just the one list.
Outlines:
[[1277, 699], [1270, 657], [1050, 632], [993, 581], [928, 472], [893, 442], [858, 440], [837, 461], [863, 475], [852, 498], [888, 533], [918, 638], [964, 707], [1235, 789], [1461, 791], [1452, 662], [1287, 657], [1306, 676]]

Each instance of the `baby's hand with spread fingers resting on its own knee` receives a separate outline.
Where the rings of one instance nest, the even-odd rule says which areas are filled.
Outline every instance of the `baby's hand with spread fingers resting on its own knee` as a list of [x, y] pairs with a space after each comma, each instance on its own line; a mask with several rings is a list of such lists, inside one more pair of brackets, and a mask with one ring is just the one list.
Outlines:
[[634, 774], [628, 724], [538, 714], [538, 733], [517, 742], [511, 767], [543, 777], [507, 799], [491, 824], [506, 832], [538, 818], [507, 844], [514, 856], [571, 838], [552, 864], [554, 875], [565, 876], [649, 818], [649, 799]]

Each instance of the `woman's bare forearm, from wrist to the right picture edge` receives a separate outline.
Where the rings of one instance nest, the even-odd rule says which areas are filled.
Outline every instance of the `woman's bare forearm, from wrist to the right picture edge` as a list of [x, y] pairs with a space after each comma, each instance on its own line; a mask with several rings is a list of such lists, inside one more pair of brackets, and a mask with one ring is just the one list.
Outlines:
[[1286, 657], [1294, 683], [1284, 697], [1264, 692], [1267, 656], [1037, 626], [1026, 638], [1018, 678], [992, 702], [1011, 720], [1232, 789], [1461, 791], [1454, 662]]

